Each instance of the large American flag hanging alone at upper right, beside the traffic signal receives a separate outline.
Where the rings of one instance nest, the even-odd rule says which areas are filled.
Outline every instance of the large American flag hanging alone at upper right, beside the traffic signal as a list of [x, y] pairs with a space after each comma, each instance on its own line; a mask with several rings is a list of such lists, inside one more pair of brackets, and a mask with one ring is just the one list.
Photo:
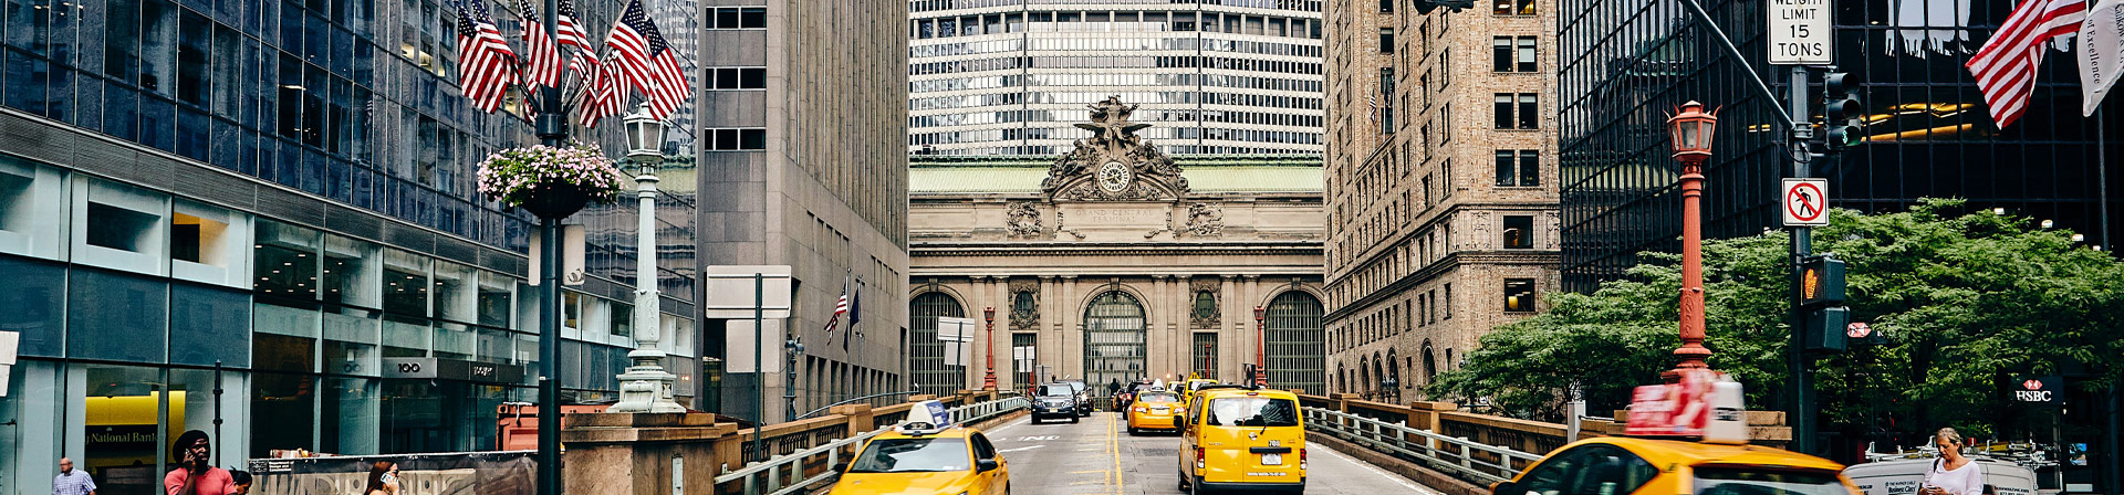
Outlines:
[[2024, 0], [2014, 6], [2005, 23], [1999, 23], [1999, 32], [1992, 32], [1984, 49], [1969, 57], [1965, 66], [1975, 74], [1977, 89], [1984, 89], [1984, 104], [2001, 130], [2028, 110], [2035, 68], [2043, 64], [2043, 42], [2079, 32], [2079, 21], [2086, 17], [2086, 0]]

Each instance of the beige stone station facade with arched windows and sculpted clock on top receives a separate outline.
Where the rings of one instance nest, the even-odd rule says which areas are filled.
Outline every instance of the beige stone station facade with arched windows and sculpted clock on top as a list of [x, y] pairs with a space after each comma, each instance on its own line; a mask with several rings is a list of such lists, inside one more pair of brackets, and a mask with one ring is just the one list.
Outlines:
[[[1272, 385], [1325, 385], [1319, 159], [1168, 157], [1134, 136], [1132, 110], [1094, 104], [1077, 125], [1094, 136], [1062, 157], [911, 159], [909, 374], [924, 391], [981, 387], [988, 344], [1003, 389], [1240, 380], [1260, 334]], [[992, 334], [937, 340], [939, 317], [986, 323], [983, 308]]]

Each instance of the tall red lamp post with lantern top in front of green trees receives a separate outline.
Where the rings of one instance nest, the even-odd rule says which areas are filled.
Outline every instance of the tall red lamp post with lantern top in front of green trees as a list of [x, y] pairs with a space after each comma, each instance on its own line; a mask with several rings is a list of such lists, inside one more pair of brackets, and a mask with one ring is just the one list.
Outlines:
[[1718, 127], [1718, 110], [1703, 113], [1703, 104], [1686, 102], [1682, 110], [1667, 119], [1674, 132], [1674, 159], [1682, 161], [1682, 346], [1674, 348], [1674, 370], [1667, 378], [1680, 378], [1680, 370], [1708, 368], [1703, 359], [1712, 355], [1703, 346], [1703, 161], [1712, 157], [1712, 136]]

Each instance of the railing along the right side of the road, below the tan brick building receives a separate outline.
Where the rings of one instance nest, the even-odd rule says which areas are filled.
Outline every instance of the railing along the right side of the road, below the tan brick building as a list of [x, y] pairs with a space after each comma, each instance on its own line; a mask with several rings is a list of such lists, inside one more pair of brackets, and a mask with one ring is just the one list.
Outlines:
[[1319, 429], [1364, 448], [1417, 461], [1476, 484], [1510, 480], [1519, 476], [1521, 470], [1542, 459], [1542, 455], [1478, 444], [1468, 438], [1440, 436], [1404, 423], [1385, 423], [1323, 408], [1304, 408], [1304, 412], [1308, 429]]

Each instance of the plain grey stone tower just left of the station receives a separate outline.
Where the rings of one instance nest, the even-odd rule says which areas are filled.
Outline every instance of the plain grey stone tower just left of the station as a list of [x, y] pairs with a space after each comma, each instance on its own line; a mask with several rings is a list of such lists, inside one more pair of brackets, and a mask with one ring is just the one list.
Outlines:
[[[703, 266], [792, 266], [788, 376], [703, 380], [703, 410], [782, 421], [833, 402], [907, 387], [907, 2], [722, 2], [703, 6], [697, 91], [699, 257]], [[826, 42], [871, 40], [871, 42]], [[826, 319], [843, 287], [860, 321]], [[705, 355], [729, 357], [731, 321], [703, 321]], [[847, 331], [847, 329], [854, 331]], [[854, 340], [847, 340], [847, 338]], [[746, 351], [752, 346], [746, 344]], [[782, 346], [767, 355], [782, 357]], [[765, 391], [760, 391], [765, 387]]]

